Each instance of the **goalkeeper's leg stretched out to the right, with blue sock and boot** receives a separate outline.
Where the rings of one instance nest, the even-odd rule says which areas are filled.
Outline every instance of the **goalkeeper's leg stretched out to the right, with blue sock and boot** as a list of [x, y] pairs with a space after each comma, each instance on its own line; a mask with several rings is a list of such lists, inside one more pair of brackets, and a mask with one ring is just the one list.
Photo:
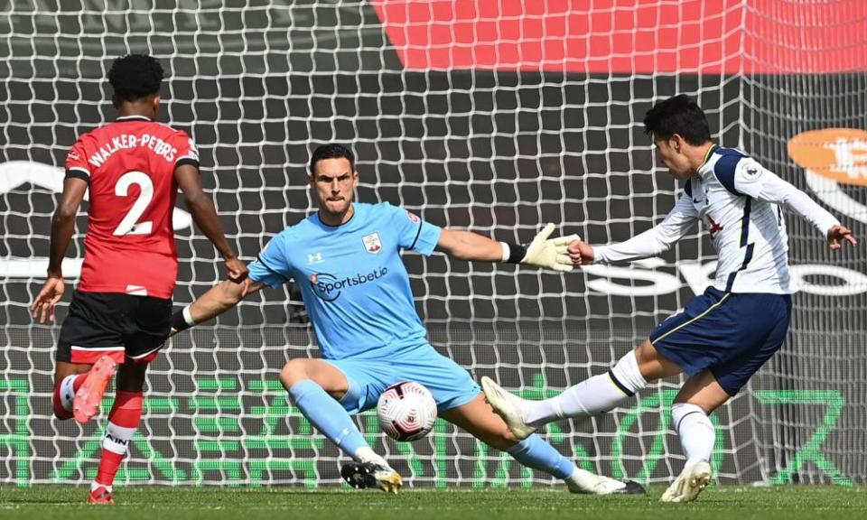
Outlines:
[[612, 478], [600, 477], [576, 467], [553, 446], [538, 435], [530, 435], [517, 441], [508, 430], [505, 422], [491, 410], [483, 394], [471, 402], [443, 412], [443, 419], [452, 422], [474, 437], [498, 450], [506, 451], [527, 468], [545, 471], [556, 478], [562, 478], [573, 493], [644, 493], [644, 489], [634, 482], [623, 483]]

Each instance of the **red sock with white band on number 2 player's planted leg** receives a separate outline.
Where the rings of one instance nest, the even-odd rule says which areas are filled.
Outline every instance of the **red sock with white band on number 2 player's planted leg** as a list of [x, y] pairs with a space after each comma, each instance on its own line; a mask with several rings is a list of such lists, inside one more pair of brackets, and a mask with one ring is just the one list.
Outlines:
[[108, 426], [102, 439], [97, 484], [110, 487], [115, 481], [117, 469], [124, 460], [129, 442], [142, 421], [143, 402], [144, 396], [141, 392], [117, 392], [115, 395], [115, 403], [108, 413]]

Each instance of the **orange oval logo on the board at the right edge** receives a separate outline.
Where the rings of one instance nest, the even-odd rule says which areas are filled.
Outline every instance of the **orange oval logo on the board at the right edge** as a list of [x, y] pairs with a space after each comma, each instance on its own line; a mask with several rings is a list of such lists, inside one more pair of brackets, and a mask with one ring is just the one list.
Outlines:
[[788, 142], [798, 166], [843, 184], [867, 186], [867, 131], [825, 128], [798, 134]]

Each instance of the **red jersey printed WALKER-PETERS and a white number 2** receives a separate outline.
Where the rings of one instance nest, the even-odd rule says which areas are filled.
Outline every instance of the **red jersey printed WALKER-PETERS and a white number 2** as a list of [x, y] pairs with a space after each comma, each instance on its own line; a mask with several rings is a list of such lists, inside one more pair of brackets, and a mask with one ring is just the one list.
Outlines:
[[146, 117], [120, 117], [79, 137], [66, 160], [66, 176], [89, 183], [79, 291], [172, 297], [174, 170], [182, 164], [199, 166], [190, 136]]

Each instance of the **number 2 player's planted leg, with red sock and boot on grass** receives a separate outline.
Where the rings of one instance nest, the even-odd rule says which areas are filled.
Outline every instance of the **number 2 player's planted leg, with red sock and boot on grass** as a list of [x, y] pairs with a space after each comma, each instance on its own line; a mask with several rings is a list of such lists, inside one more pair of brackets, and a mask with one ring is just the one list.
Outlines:
[[97, 478], [90, 484], [90, 504], [114, 503], [112, 485], [117, 469], [142, 421], [146, 372], [147, 363], [135, 363], [129, 359], [117, 370], [115, 401], [108, 412], [108, 424], [102, 436]]

